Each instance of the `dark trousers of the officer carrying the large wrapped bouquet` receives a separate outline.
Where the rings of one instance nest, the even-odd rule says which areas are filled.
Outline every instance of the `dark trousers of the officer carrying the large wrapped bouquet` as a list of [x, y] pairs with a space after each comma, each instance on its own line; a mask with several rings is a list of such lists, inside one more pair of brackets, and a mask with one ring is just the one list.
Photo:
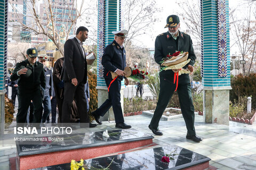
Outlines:
[[[179, 86], [177, 89], [181, 113], [185, 120], [187, 131], [190, 135], [195, 135], [195, 113], [194, 113], [194, 105], [191, 96], [191, 88], [189, 81], [183, 81], [182, 78], [187, 79], [186, 76], [188, 75], [180, 75], [179, 76]], [[187, 82], [187, 83], [186, 83]], [[164, 78], [160, 75], [160, 92], [158, 96], [158, 101], [156, 105], [156, 109], [152, 120], [150, 122], [150, 126], [153, 129], [157, 129], [159, 125], [159, 121], [164, 113], [166, 106], [168, 105], [173, 92], [176, 88], [176, 84], [173, 83], [173, 77]]]

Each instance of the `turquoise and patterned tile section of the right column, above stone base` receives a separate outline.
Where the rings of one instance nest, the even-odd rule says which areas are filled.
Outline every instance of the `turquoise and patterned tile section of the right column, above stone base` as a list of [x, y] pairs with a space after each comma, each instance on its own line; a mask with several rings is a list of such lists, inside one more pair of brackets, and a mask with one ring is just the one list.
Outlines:
[[[222, 7], [218, 5], [221, 2]], [[221, 13], [218, 7], [223, 10]], [[201, 0], [201, 10], [204, 87], [230, 87], [228, 0]]]

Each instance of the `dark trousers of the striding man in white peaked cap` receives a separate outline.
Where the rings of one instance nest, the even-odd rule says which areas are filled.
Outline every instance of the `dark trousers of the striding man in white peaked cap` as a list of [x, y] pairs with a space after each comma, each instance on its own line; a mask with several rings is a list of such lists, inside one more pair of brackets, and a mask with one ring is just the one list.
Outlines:
[[[112, 79], [105, 79], [107, 87], [109, 87]], [[104, 116], [110, 107], [113, 107], [113, 112], [115, 116], [116, 123], [123, 123], [124, 116], [121, 107], [121, 79], [116, 79], [110, 86], [108, 92], [108, 99], [95, 111], [95, 115]]]

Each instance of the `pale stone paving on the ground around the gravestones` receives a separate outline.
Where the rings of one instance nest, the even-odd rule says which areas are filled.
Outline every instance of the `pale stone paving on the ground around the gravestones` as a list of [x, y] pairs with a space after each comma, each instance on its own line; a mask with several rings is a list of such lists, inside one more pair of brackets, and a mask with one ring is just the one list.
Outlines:
[[[125, 122], [131, 124], [134, 129], [154, 135], [148, 129], [150, 119], [145, 115], [137, 115], [125, 117]], [[90, 131], [114, 128], [113, 121], [103, 122], [97, 128], [90, 128]], [[212, 159], [209, 169], [256, 170], [256, 123], [247, 125], [230, 122], [229, 126], [207, 124], [204, 123], [203, 116], [196, 115], [195, 128], [197, 135], [203, 138], [200, 143], [185, 138], [187, 130], [183, 118], [175, 118], [168, 122], [161, 121], [159, 129], [163, 131], [164, 135], [154, 135], [153, 142], [161, 146], [178, 145], [205, 155]], [[6, 132], [12, 133], [11, 130]], [[0, 169], [10, 169], [9, 158], [15, 157], [17, 153], [13, 138], [8, 139], [8, 134], [5, 136], [5, 141], [0, 140]]]

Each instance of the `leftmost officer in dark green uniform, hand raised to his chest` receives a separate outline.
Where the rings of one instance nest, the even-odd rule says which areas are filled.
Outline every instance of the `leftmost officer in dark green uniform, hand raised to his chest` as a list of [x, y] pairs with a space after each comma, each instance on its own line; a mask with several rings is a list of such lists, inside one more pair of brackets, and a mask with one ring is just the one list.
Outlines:
[[45, 89], [44, 66], [36, 61], [37, 50], [29, 48], [27, 59], [17, 63], [11, 81], [18, 80], [18, 114], [17, 123], [25, 123], [30, 101], [34, 104], [33, 123], [40, 123], [43, 112], [43, 91]]

